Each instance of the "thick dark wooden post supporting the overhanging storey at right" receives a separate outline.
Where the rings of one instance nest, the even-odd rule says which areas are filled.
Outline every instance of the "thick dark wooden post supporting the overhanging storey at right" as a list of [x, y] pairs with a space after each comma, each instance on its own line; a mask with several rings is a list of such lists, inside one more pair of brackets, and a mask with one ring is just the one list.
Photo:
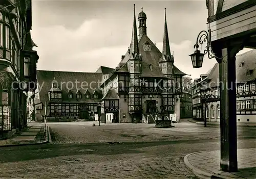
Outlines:
[[[232, 42], [235, 43], [235, 42]], [[220, 127], [222, 171], [238, 171], [237, 161], [237, 108], [236, 108], [236, 54], [242, 45], [227, 46], [221, 50], [220, 78]], [[219, 59], [218, 59], [219, 60]]]

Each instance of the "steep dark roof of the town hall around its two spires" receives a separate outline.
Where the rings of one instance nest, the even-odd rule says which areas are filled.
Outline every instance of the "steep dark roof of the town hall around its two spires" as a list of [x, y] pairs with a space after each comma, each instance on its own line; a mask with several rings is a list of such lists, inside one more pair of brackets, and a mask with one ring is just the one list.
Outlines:
[[[146, 42], [151, 44], [151, 52], [144, 52], [143, 44]], [[139, 53], [141, 54], [142, 58], [142, 73], [140, 74], [141, 77], [166, 78], [158, 64], [159, 60], [162, 58], [162, 53], [145, 34], [139, 39]], [[129, 61], [129, 59], [130, 55], [128, 54], [127, 50], [121, 61], [121, 63], [125, 63], [125, 65], [123, 65], [120, 70], [117, 70], [118, 72], [129, 72], [127, 68], [127, 61]], [[152, 71], [149, 68], [150, 64], [153, 65]], [[180, 71], [175, 65], [174, 74], [186, 75], [184, 72]]]

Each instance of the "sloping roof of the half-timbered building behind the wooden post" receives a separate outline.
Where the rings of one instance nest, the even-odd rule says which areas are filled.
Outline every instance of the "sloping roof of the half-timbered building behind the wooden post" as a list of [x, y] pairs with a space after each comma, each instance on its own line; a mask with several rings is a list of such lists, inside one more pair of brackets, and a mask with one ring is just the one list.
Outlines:
[[[243, 62], [243, 66], [239, 67], [239, 64]], [[247, 70], [253, 70], [252, 74], [246, 75]], [[244, 54], [241, 54], [236, 57], [236, 76], [237, 82], [249, 82], [254, 81], [256, 79], [256, 50], [250, 50]], [[208, 75], [208, 83], [207, 87], [217, 87], [219, 81], [219, 64], [216, 63], [214, 67], [211, 69]], [[215, 83], [214, 83], [215, 82]]]

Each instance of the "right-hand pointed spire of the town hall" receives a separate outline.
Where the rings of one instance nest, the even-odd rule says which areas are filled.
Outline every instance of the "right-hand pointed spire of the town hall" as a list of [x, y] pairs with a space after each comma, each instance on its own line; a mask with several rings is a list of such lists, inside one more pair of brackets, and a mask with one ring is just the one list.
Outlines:
[[167, 22], [166, 22], [166, 8], [164, 8], [164, 32], [163, 32], [163, 56], [165, 57], [166, 61], [172, 61], [172, 54], [170, 54], [170, 44], [169, 44], [169, 37], [168, 37], [168, 29], [167, 29]]

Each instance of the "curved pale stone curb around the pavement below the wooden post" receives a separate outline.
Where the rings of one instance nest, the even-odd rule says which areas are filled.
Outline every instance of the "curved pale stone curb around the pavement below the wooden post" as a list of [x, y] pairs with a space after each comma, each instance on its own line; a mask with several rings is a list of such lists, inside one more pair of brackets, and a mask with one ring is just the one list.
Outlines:
[[195, 167], [194, 165], [190, 164], [189, 160], [188, 160], [188, 157], [190, 155], [193, 155], [193, 154], [198, 154], [198, 153], [201, 153], [201, 152], [204, 152], [204, 151], [198, 151], [198, 152], [194, 152], [194, 153], [191, 153], [191, 154], [187, 154], [184, 158], [183, 158], [183, 161], [184, 161], [184, 164], [185, 166], [192, 172], [194, 173], [196, 176], [200, 177], [200, 178], [224, 178], [224, 179], [231, 179], [232, 177], [228, 177], [228, 176], [222, 176], [222, 175], [219, 175], [219, 174], [212, 174], [212, 173], [208, 173], [206, 171], [203, 171], [203, 170], [200, 170], [199, 168]]

